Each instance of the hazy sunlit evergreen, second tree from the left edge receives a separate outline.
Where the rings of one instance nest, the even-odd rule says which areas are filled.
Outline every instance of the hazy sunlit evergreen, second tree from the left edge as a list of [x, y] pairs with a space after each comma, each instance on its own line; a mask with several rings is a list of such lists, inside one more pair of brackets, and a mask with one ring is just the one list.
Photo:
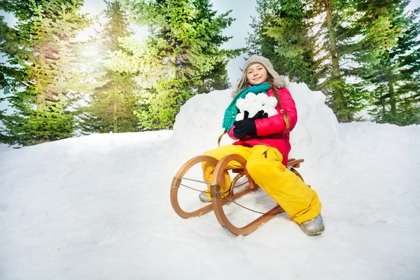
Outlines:
[[[120, 3], [105, 3], [107, 22], [97, 43], [102, 44], [99, 55], [106, 59], [109, 52], [121, 50], [118, 40], [132, 35], [132, 31]], [[120, 64], [118, 61], [116, 63]], [[93, 90], [89, 105], [80, 109], [80, 128], [83, 133], [139, 131], [139, 120], [134, 115], [134, 111], [138, 109], [138, 86], [134, 75], [113, 71], [103, 62], [98, 71], [101, 74], [97, 78], [97, 87]]]

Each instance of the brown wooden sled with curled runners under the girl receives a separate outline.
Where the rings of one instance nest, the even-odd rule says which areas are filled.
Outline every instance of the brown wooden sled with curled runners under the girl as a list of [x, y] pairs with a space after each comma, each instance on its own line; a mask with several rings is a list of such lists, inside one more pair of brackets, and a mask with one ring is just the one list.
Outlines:
[[[226, 166], [231, 161], [238, 162], [242, 168], [241, 169], [226, 169]], [[180, 186], [182, 185], [183, 176], [188, 172], [188, 170], [191, 167], [201, 162], [209, 162], [215, 167], [212, 181], [211, 181], [211, 188], [210, 188], [211, 203], [195, 211], [187, 212], [181, 209], [179, 205], [178, 191], [179, 191]], [[295, 168], [300, 167], [300, 163], [302, 162], [304, 162], [304, 160], [302, 159], [295, 160], [294, 158], [290, 158], [288, 160], [288, 165], [287, 165], [287, 168], [291, 172], [299, 176], [300, 179], [302, 179], [302, 176], [300, 176], [300, 174], [296, 171]], [[225, 180], [224, 179], [225, 170], [232, 170], [233, 173], [237, 174], [237, 176], [235, 176], [235, 178], [232, 180], [229, 194], [227, 197], [225, 197], [223, 193], [221, 193], [221, 184], [223, 184]], [[234, 191], [235, 183], [242, 176], [246, 176], [248, 178], [248, 183], [249, 183], [248, 187], [244, 188], [244, 190], [240, 190], [239, 192], [235, 193]], [[184, 180], [197, 181], [193, 179], [184, 179]], [[209, 183], [209, 182], [202, 182], [202, 181], [200, 182]], [[223, 211], [223, 205], [228, 204], [229, 202], [235, 201], [239, 197], [242, 197], [257, 188], [258, 188], [258, 185], [253, 181], [253, 179], [251, 178], [251, 176], [249, 176], [246, 170], [246, 160], [240, 155], [235, 155], [235, 154], [226, 155], [221, 160], [216, 160], [215, 158], [212, 158], [209, 155], [198, 155], [188, 160], [188, 162], [186, 162], [174, 176], [174, 179], [172, 180], [172, 185], [171, 185], [171, 204], [176, 214], [179, 214], [179, 216], [181, 216], [182, 218], [202, 216], [204, 214], [209, 213], [209, 211], [214, 211], [214, 214], [216, 214], [216, 218], [218, 222], [221, 224], [221, 226], [226, 228], [230, 232], [232, 232], [232, 234], [249, 235], [251, 232], [258, 229], [263, 223], [267, 223], [267, 221], [274, 218], [276, 214], [283, 212], [284, 210], [281, 208], [281, 206], [276, 205], [276, 207], [267, 211], [265, 214], [262, 214], [262, 216], [256, 218], [254, 221], [251, 221], [251, 223], [248, 223], [248, 225], [245, 225], [243, 228], [237, 228], [235, 225], [232, 225], [232, 223], [230, 223], [228, 217], [225, 215], [225, 211]]]

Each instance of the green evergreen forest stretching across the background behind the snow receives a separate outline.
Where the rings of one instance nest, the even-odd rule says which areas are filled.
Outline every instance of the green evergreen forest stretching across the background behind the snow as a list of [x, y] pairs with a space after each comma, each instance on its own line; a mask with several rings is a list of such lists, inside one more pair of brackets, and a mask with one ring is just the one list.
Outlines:
[[1, 143], [171, 130], [188, 99], [235, 86], [231, 59], [253, 54], [323, 92], [339, 122], [367, 112], [420, 124], [420, 9], [408, 0], [256, 0], [247, 47], [235, 49], [223, 48], [235, 18], [210, 0], [104, 2], [94, 17], [83, 0], [0, 0], [16, 19], [0, 16]]

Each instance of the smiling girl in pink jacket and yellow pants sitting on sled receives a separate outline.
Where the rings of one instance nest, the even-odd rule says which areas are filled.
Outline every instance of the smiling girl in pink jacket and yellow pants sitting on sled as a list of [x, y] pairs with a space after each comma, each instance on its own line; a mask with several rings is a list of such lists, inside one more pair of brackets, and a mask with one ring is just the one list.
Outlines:
[[[204, 155], [217, 160], [232, 153], [244, 157], [247, 160], [246, 169], [255, 183], [281, 205], [303, 232], [319, 235], [324, 225], [318, 195], [286, 168], [290, 151], [289, 134], [297, 122], [295, 102], [286, 89], [287, 83], [287, 78], [279, 76], [267, 58], [258, 55], [249, 57], [223, 119], [223, 127], [228, 135], [238, 141], [207, 151]], [[265, 111], [258, 111], [249, 118], [248, 111], [238, 112], [237, 100], [247, 94], [275, 97], [276, 114], [268, 116]], [[243, 119], [237, 114], [243, 114]], [[238, 120], [235, 121], [235, 118]], [[241, 168], [241, 165], [230, 162], [227, 168]], [[203, 162], [202, 169], [204, 181], [211, 181], [214, 166]], [[230, 176], [225, 171], [225, 183], [221, 186], [223, 195], [228, 195], [230, 183]], [[209, 191], [200, 193], [200, 200], [211, 202]]]

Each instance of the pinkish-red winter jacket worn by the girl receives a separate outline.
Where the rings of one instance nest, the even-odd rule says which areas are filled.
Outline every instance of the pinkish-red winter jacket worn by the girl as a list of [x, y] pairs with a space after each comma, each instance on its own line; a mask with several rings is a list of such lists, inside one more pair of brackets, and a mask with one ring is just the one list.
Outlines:
[[[278, 88], [277, 92], [279, 92], [279, 99], [283, 110], [286, 111], [288, 114], [288, 118], [290, 121], [290, 128], [289, 132], [293, 130], [297, 122], [297, 111], [295, 106], [295, 101], [293, 100], [290, 92], [286, 87]], [[269, 97], [274, 96], [273, 91], [270, 89], [267, 92]], [[285, 132], [286, 130], [286, 123], [283, 119], [283, 113], [280, 113], [279, 105], [276, 106], [276, 110], [279, 114], [271, 116], [269, 118], [262, 118], [259, 120], [255, 120], [255, 127], [257, 128], [257, 137], [243, 137], [236, 141], [233, 145], [242, 145], [242, 146], [249, 146], [253, 147], [256, 145], [265, 145], [269, 147], [276, 148], [279, 150], [281, 155], [283, 155], [283, 165], [287, 165], [288, 161], [288, 153], [290, 152], [290, 142], [289, 142], [289, 132]], [[228, 135], [230, 138], [234, 140], [238, 140], [237, 137], [234, 136], [233, 129], [235, 125], [230, 129]]]

